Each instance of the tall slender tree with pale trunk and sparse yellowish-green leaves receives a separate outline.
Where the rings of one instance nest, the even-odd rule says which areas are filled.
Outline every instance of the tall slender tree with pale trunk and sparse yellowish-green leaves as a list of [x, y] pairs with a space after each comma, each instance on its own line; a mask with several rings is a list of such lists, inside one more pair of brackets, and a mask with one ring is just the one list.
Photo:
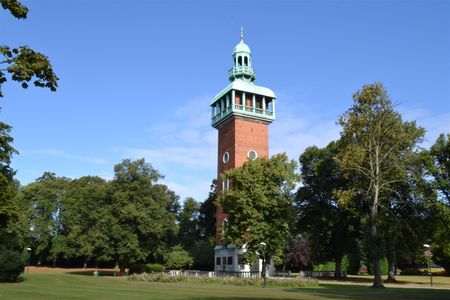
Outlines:
[[363, 86], [353, 95], [353, 101], [353, 106], [339, 119], [344, 147], [338, 158], [348, 178], [357, 179], [357, 183], [338, 196], [343, 204], [364, 199], [368, 207], [373, 287], [383, 287], [379, 209], [389, 205], [389, 196], [395, 192], [392, 185], [405, 180], [404, 164], [421, 141], [424, 130], [415, 122], [402, 121], [381, 83]]

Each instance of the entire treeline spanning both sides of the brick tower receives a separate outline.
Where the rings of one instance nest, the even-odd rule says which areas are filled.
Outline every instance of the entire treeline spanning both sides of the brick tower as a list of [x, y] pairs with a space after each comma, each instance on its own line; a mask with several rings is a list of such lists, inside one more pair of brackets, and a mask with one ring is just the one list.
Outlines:
[[20, 186], [0, 123], [0, 267], [30, 248], [37, 265], [212, 270], [218, 201], [229, 214], [224, 241], [279, 269], [331, 262], [336, 274], [375, 274], [374, 286], [382, 261], [389, 280], [427, 260], [449, 272], [450, 134], [422, 148], [425, 130], [402, 120], [380, 83], [356, 92], [338, 123], [340, 138], [307, 148], [300, 172], [286, 155], [248, 161], [225, 173], [233, 188], [219, 199], [213, 184], [204, 202], [183, 205], [143, 159], [117, 164], [110, 181], [44, 173]]

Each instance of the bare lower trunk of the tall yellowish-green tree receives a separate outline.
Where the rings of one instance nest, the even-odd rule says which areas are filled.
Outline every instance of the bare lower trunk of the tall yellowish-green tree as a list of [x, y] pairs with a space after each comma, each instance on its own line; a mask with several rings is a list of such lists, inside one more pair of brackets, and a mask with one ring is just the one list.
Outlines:
[[381, 267], [379, 258], [379, 240], [377, 232], [377, 217], [378, 217], [378, 183], [374, 184], [374, 198], [372, 203], [372, 208], [370, 212], [370, 238], [372, 240], [372, 261], [373, 261], [373, 288], [384, 288], [383, 279], [381, 278]]

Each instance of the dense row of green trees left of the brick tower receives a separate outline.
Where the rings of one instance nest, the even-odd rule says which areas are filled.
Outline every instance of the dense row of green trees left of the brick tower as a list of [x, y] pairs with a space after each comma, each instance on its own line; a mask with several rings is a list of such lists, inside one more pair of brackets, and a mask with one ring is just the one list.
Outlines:
[[[159, 183], [161, 174], [144, 159], [123, 160], [114, 179], [78, 179], [46, 172], [17, 187], [18, 250], [31, 248], [31, 263], [53, 266], [109, 266], [138, 263], [212, 268], [214, 190], [200, 203]], [[175, 254], [174, 254], [175, 253]]]

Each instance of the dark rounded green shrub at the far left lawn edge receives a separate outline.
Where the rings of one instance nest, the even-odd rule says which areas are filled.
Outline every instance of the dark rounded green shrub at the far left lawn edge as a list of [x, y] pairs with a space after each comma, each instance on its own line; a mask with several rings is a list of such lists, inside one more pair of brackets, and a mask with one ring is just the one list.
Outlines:
[[14, 282], [25, 268], [22, 253], [0, 248], [0, 282]]

